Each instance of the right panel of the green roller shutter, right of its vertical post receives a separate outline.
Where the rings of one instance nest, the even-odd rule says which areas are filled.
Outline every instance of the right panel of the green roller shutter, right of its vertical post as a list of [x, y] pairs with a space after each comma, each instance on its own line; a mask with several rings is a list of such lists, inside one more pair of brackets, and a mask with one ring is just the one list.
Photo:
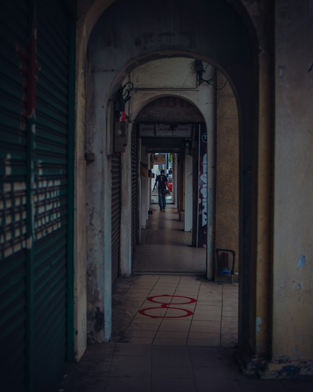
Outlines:
[[34, 183], [34, 385], [42, 390], [66, 356], [68, 16], [38, 2]]

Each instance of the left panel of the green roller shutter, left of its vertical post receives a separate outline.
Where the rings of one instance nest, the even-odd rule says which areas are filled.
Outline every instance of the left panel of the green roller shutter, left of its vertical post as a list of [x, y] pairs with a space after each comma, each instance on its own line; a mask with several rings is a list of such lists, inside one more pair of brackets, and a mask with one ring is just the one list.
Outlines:
[[25, 46], [28, 41], [27, 3], [0, 5], [1, 389], [21, 392], [25, 390], [27, 92], [16, 44]]

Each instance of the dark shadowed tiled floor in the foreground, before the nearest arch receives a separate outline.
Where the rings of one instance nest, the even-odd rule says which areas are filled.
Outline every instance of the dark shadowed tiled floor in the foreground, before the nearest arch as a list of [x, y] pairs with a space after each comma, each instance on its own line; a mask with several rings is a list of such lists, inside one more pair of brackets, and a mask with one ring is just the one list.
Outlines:
[[89, 344], [59, 392], [311, 392], [313, 381], [243, 376], [233, 348], [129, 343]]

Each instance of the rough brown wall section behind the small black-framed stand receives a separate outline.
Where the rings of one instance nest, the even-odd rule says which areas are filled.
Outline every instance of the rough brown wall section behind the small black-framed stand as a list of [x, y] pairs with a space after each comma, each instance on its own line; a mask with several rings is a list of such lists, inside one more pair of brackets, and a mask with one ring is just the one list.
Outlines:
[[[217, 87], [222, 88], [225, 77], [218, 72]], [[215, 246], [236, 252], [234, 271], [238, 272], [239, 254], [239, 124], [234, 93], [226, 83], [216, 91], [216, 217]], [[229, 268], [232, 254], [228, 253]], [[216, 281], [230, 282], [230, 276], [218, 274]], [[237, 281], [234, 276], [234, 281]]]

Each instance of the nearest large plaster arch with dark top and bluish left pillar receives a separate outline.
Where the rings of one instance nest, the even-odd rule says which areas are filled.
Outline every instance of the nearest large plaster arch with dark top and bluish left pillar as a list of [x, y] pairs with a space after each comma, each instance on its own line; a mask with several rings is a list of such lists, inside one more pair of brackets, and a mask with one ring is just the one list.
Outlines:
[[[253, 132], [257, 133], [257, 78], [254, 72], [257, 63], [254, 43], [236, 11], [227, 2], [213, 3], [200, 1], [198, 5], [203, 13], [199, 15], [199, 7], [195, 7], [194, 3], [186, 3], [182, 7], [177, 1], [158, 2], [148, 7], [142, 1], [116, 1], [99, 18], [90, 36], [85, 141], [87, 149], [97, 159], [86, 175], [90, 204], [87, 263], [88, 273], [91, 272], [87, 276], [87, 290], [90, 289], [91, 294], [87, 305], [87, 319], [88, 314], [90, 316], [87, 328], [91, 328], [99, 340], [110, 338], [111, 211], [106, 198], [111, 197], [111, 158], [107, 155], [107, 138], [110, 135], [106, 127], [107, 103], [125, 76], [138, 65], [157, 58], [185, 56], [198, 58], [221, 69], [236, 96], [240, 145], [240, 269], [243, 272], [240, 279], [244, 282], [239, 301], [239, 344], [248, 342], [250, 315], [242, 309], [243, 306], [248, 307], [250, 295], [252, 136]], [[122, 14], [121, 7], [124, 10]], [[135, 8], [140, 12], [133, 15]], [[205, 15], [212, 14], [212, 10], [214, 19], [207, 24]], [[152, 23], [151, 13], [158, 15], [157, 21]], [[113, 23], [116, 15], [121, 17], [118, 27]], [[129, 18], [129, 15], [133, 17]], [[174, 31], [180, 33], [171, 33], [173, 26]], [[150, 33], [146, 34], [146, 31]], [[104, 329], [101, 323], [94, 324], [94, 320], [103, 319]]]

